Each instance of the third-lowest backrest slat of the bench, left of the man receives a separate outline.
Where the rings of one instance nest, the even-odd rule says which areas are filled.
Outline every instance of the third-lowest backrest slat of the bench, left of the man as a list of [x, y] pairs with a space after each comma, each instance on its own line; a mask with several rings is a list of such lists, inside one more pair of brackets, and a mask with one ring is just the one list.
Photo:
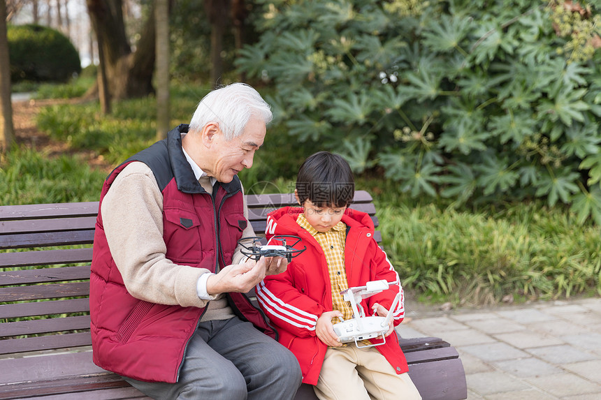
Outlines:
[[89, 311], [89, 299], [64, 299], [48, 302], [0, 304], [0, 318], [21, 318]]

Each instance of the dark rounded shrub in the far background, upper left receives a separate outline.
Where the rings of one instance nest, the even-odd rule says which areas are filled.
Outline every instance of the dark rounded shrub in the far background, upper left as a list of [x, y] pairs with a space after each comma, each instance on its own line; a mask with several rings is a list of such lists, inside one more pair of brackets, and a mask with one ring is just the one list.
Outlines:
[[28, 24], [9, 26], [10, 79], [66, 82], [81, 71], [73, 44], [59, 31]]

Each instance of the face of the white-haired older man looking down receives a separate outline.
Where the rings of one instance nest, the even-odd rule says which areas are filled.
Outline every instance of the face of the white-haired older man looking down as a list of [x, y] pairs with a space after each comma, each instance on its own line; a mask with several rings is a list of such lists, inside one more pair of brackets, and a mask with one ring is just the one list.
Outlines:
[[265, 123], [260, 119], [250, 119], [242, 135], [229, 141], [219, 130], [212, 138], [213, 162], [205, 172], [224, 184], [231, 182], [238, 172], [252, 167], [254, 152], [263, 145], [265, 133]]

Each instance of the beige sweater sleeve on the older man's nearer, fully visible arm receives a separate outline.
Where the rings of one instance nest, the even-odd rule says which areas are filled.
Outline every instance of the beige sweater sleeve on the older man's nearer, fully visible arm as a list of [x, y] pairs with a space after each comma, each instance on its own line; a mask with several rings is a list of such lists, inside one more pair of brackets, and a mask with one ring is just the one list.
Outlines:
[[163, 195], [152, 170], [133, 162], [103, 198], [106, 239], [128, 292], [147, 302], [203, 307], [196, 282], [208, 269], [177, 265], [166, 258]]

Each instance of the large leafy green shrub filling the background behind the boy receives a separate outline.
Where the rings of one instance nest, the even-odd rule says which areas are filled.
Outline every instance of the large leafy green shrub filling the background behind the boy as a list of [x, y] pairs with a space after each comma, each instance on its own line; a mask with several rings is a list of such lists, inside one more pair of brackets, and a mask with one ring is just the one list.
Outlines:
[[592, 2], [259, 3], [261, 38], [237, 65], [275, 86], [276, 123], [298, 140], [414, 198], [540, 198], [601, 223]]

